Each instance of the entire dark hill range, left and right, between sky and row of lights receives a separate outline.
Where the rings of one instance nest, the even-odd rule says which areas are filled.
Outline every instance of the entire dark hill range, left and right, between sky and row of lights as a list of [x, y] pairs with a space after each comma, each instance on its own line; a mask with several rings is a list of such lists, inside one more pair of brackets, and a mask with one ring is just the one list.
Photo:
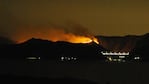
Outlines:
[[11, 40], [0, 38], [0, 58], [25, 59], [26, 57], [41, 57], [41, 59], [59, 60], [60, 57], [76, 57], [79, 60], [104, 60], [101, 51], [130, 52], [130, 60], [141, 57], [142, 61], [149, 61], [149, 33], [142, 36], [106, 37], [97, 36], [100, 45], [92, 42], [88, 44], [74, 44], [68, 42], [51, 42], [32, 38], [21, 44], [14, 44]]

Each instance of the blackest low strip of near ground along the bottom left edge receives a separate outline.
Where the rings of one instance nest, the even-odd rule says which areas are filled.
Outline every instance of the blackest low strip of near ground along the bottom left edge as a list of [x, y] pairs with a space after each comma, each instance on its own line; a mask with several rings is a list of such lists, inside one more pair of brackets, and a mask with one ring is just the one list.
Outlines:
[[27, 77], [27, 76], [14, 76], [14, 75], [0, 75], [0, 83], [37, 83], [37, 84], [96, 84], [88, 80], [80, 80], [73, 78], [38, 78], [38, 77]]

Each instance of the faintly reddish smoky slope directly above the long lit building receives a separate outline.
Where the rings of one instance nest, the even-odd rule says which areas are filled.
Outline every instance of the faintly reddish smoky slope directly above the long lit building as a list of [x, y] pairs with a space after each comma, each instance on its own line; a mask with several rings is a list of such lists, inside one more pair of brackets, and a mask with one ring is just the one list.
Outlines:
[[129, 52], [141, 36], [127, 35], [127, 36], [97, 36], [100, 44], [111, 51]]

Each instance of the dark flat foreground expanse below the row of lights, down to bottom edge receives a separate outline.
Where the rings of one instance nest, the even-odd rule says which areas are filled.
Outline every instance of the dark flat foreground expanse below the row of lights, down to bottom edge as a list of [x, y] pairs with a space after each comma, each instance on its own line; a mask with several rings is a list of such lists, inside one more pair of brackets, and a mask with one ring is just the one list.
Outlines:
[[149, 63], [0, 60], [0, 74], [0, 80], [20, 84], [149, 84]]

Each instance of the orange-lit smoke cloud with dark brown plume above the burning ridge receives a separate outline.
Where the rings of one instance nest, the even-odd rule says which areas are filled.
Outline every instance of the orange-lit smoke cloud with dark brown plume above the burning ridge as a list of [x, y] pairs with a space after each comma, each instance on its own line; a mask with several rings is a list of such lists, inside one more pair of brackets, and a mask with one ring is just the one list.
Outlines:
[[11, 39], [17, 43], [24, 42], [31, 38], [40, 38], [51, 41], [67, 41], [72, 43], [88, 43], [94, 36], [87, 28], [80, 24], [71, 24], [67, 27], [59, 25], [50, 26], [23, 26], [18, 28]]

